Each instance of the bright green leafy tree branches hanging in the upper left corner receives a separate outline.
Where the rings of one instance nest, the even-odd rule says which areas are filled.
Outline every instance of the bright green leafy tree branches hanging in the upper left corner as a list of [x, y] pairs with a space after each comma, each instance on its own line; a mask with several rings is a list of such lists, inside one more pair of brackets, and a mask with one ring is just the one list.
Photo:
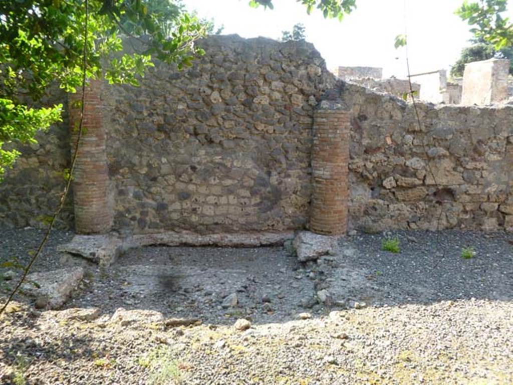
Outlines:
[[[38, 130], [61, 120], [62, 105], [35, 105], [51, 84], [68, 92], [81, 86], [84, 46], [87, 79], [134, 86], [154, 60], [183, 68], [204, 53], [194, 42], [207, 26], [162, 2], [168, 12], [152, 12], [153, 0], [90, 0], [87, 38], [84, 0], [0, 3], [0, 178], [19, 156], [16, 143], [35, 141]], [[123, 53], [127, 36], [142, 48]]]

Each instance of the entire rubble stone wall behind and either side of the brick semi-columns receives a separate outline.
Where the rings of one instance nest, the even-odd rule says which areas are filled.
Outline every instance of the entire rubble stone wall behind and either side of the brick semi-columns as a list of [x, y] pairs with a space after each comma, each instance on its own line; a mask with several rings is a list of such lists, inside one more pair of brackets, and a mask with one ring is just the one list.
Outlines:
[[[513, 107], [420, 103], [419, 130], [411, 105], [336, 81], [310, 44], [202, 44], [207, 54], [190, 69], [157, 65], [141, 87], [102, 87], [114, 230], [305, 228], [314, 109], [324, 99], [352, 112], [348, 228], [435, 229], [441, 207], [441, 228], [513, 227]], [[67, 104], [62, 93], [51, 100]], [[23, 148], [0, 184], [2, 224], [41, 225], [57, 204], [66, 127]], [[62, 226], [73, 226], [72, 213], [69, 203]]]

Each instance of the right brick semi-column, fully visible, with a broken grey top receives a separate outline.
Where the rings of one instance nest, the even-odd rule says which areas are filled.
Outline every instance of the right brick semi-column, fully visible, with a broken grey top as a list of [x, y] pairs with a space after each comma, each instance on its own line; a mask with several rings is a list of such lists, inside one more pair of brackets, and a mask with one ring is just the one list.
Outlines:
[[324, 101], [313, 115], [310, 230], [325, 235], [347, 231], [350, 112]]

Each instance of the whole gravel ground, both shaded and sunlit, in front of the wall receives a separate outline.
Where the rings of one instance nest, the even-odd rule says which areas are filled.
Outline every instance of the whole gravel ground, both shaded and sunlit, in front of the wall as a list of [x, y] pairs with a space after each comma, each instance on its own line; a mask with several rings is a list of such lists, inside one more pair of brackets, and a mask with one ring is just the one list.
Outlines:
[[[0, 261], [26, 260], [41, 235], [1, 233]], [[385, 236], [400, 253], [381, 251]], [[35, 267], [81, 264], [87, 277], [68, 310], [39, 312], [19, 297], [0, 319], [0, 383], [513, 384], [507, 234], [357, 234], [307, 264], [281, 247], [146, 247], [106, 272], [58, 255], [70, 237], [54, 233]], [[229, 295], [238, 304], [223, 307]], [[69, 316], [92, 306], [94, 317]], [[119, 307], [132, 322], [111, 318]], [[249, 329], [235, 328], [241, 318]]]

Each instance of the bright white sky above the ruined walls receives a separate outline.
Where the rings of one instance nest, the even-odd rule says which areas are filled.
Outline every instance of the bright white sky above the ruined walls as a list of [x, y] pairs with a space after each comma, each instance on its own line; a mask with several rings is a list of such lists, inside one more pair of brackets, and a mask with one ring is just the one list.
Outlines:
[[[321, 52], [328, 68], [382, 67], [385, 77], [405, 78], [404, 49], [396, 50], [393, 44], [405, 32], [406, 23], [412, 73], [449, 69], [471, 37], [470, 27], [454, 14], [463, 0], [357, 0], [357, 10], [342, 22], [325, 20], [319, 11], [307, 15], [295, 0], [274, 0], [273, 10], [250, 8], [249, 0], [184, 3], [199, 16], [223, 24], [223, 34], [278, 39], [282, 31], [303, 23], [306, 40]], [[513, 12], [509, 10], [508, 15]]]

